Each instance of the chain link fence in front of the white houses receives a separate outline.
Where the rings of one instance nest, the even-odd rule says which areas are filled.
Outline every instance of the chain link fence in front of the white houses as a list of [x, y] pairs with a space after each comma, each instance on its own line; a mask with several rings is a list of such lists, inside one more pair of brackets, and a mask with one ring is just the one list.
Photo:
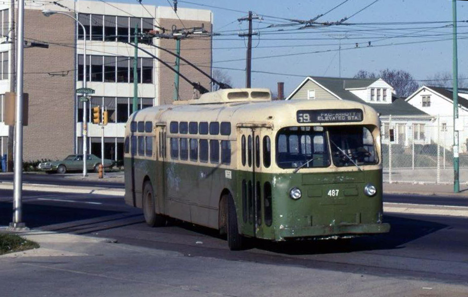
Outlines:
[[[385, 116], [381, 119], [384, 182], [453, 183], [453, 117]], [[459, 181], [468, 182], [468, 117], [457, 124]]]

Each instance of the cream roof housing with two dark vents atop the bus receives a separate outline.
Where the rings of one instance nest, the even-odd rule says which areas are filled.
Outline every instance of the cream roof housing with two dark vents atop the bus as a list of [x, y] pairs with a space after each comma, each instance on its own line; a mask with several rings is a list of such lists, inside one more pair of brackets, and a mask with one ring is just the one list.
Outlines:
[[188, 104], [214, 104], [232, 102], [271, 101], [269, 89], [222, 89], [202, 94], [200, 99], [188, 100]]

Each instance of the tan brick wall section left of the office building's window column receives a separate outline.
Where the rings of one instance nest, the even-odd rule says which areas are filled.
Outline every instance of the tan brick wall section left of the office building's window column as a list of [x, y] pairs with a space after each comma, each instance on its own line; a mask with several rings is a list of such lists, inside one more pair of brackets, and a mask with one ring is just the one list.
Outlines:
[[[49, 48], [24, 49], [29, 123], [23, 130], [23, 160], [61, 159], [74, 152], [75, 143], [75, 22], [59, 14], [45, 17], [38, 10], [25, 10], [24, 20], [25, 40], [46, 42]], [[47, 73], [57, 71], [68, 73]]]

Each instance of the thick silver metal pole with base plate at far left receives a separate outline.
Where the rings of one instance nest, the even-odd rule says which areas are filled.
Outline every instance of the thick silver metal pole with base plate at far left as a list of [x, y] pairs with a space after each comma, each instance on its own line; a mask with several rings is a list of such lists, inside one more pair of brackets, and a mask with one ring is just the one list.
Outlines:
[[24, 50], [24, 0], [18, 1], [18, 40], [16, 43], [16, 119], [15, 119], [15, 160], [13, 181], [13, 221], [10, 228], [26, 228], [22, 222], [22, 188], [23, 188], [23, 50]]

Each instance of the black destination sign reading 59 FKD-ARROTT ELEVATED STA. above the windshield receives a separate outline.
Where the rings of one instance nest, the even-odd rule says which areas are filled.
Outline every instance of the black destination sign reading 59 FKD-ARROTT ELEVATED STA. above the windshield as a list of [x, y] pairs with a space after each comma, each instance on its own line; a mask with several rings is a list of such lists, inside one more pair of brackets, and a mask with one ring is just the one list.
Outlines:
[[361, 109], [298, 110], [297, 121], [298, 123], [362, 122], [363, 110]]

